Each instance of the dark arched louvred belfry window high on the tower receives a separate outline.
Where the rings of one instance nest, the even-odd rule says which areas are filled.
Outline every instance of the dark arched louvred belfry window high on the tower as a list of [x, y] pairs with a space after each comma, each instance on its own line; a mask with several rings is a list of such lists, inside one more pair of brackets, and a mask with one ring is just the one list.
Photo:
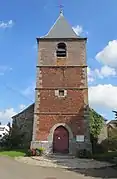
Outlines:
[[57, 45], [56, 56], [57, 57], [66, 57], [67, 56], [67, 47], [66, 47], [65, 43], [59, 43]]

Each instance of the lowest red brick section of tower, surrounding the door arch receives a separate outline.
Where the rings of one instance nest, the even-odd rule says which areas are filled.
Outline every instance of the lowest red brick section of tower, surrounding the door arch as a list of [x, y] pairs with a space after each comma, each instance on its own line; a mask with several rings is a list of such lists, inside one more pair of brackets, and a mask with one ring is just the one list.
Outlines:
[[67, 124], [74, 137], [84, 134], [84, 118], [79, 115], [40, 115], [39, 121], [36, 140], [48, 140], [50, 129], [57, 123]]

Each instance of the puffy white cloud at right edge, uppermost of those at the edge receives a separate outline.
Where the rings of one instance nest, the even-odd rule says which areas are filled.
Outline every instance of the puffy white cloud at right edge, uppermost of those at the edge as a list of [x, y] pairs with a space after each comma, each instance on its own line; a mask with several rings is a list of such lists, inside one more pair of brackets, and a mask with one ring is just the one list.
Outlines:
[[117, 67], [117, 40], [109, 41], [107, 46], [97, 53], [96, 59], [103, 64]]

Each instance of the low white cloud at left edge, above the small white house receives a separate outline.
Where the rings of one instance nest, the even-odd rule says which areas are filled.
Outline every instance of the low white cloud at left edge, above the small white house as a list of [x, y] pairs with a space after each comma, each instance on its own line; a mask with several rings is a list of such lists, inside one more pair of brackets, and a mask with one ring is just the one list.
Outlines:
[[0, 122], [7, 123], [11, 121], [11, 117], [16, 114], [14, 108], [8, 108], [5, 110], [0, 111]]

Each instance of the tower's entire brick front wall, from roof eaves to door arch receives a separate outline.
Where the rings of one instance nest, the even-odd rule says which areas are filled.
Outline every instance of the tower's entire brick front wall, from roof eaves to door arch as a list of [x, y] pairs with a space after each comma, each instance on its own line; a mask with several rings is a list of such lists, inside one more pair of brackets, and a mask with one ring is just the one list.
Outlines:
[[[50, 129], [56, 123], [68, 124], [74, 136], [88, 131], [84, 122], [88, 112], [85, 109], [88, 105], [86, 41], [64, 41], [66, 58], [56, 58], [58, 42], [39, 42], [33, 126], [36, 141], [48, 140]], [[65, 98], [55, 95], [59, 88], [67, 90]]]

